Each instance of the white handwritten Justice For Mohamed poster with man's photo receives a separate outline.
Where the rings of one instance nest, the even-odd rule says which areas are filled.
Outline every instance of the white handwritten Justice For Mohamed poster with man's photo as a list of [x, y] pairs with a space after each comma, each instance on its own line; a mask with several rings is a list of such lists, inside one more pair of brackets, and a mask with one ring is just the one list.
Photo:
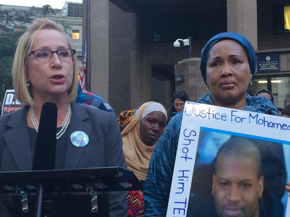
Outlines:
[[290, 217], [286, 181], [290, 118], [185, 103], [167, 217]]

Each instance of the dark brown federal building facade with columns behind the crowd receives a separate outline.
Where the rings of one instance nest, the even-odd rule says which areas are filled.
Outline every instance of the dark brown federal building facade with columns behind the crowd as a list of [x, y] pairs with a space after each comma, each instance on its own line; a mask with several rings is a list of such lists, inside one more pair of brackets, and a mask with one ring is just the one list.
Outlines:
[[83, 0], [83, 34], [89, 20], [91, 36], [90, 91], [104, 96], [116, 112], [138, 108], [150, 99], [168, 108], [176, 89], [198, 92], [189, 94], [196, 100], [206, 90], [197, 90], [195, 84], [204, 89], [205, 84], [197, 75], [196, 82], [186, 82], [192, 79], [187, 76], [183, 83], [175, 82], [174, 66], [186, 58], [187, 48], [174, 49], [173, 42], [191, 36], [192, 57], [199, 58], [208, 39], [234, 31], [250, 40], [258, 56], [253, 93], [268, 89], [276, 106], [284, 108], [290, 101], [290, 33], [285, 18], [290, 17], [289, 4], [287, 0]]

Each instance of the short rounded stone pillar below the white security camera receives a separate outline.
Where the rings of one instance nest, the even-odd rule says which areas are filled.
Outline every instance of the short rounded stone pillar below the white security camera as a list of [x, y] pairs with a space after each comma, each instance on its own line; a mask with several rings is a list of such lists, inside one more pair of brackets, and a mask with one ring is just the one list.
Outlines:
[[184, 90], [188, 94], [190, 101], [198, 100], [206, 93], [209, 93], [201, 77], [199, 67], [200, 58], [184, 59], [174, 66], [175, 76], [181, 74], [184, 76], [183, 82], [175, 83], [176, 91]]

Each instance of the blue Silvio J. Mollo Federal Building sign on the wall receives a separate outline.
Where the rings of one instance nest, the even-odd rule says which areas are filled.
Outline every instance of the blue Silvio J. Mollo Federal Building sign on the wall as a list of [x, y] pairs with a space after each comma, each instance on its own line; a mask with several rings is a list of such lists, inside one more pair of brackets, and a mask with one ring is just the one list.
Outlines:
[[280, 71], [279, 54], [257, 55], [257, 72]]

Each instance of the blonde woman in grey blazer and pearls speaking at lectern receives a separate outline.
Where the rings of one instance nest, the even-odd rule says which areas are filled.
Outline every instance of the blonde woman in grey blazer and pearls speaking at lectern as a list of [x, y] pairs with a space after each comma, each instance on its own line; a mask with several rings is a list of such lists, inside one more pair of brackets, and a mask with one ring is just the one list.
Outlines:
[[[50, 20], [37, 19], [21, 36], [13, 62], [13, 80], [17, 99], [25, 105], [0, 117], [1, 172], [32, 170], [45, 102], [57, 106], [55, 169], [126, 168], [115, 115], [74, 102], [78, 87], [75, 52], [63, 27]], [[72, 143], [71, 137], [77, 133], [86, 137], [82, 146]], [[47, 212], [43, 216], [91, 215], [90, 195], [75, 195], [68, 200], [52, 201], [51, 209], [43, 208]], [[1, 196], [1, 215], [22, 216], [19, 204], [9, 201]], [[109, 194], [109, 212], [110, 216], [126, 216], [126, 192]], [[33, 216], [33, 208], [27, 216]]]

